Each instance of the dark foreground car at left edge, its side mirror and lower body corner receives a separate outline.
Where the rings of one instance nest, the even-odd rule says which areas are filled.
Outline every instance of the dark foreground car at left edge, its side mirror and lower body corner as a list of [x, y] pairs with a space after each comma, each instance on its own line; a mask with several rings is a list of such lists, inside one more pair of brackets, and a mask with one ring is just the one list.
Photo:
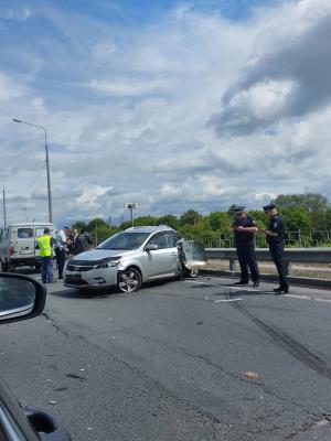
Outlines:
[[[42, 313], [46, 290], [21, 275], [0, 273], [0, 324], [32, 319]], [[71, 441], [56, 417], [41, 409], [22, 408], [0, 379], [0, 440]]]

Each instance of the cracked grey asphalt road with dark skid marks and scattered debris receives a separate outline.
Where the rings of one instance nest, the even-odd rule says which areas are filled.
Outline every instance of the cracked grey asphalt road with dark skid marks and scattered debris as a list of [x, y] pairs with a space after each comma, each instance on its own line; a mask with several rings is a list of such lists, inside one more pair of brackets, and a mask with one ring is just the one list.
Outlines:
[[229, 283], [58, 281], [42, 316], [1, 326], [1, 376], [74, 441], [330, 441], [331, 292]]

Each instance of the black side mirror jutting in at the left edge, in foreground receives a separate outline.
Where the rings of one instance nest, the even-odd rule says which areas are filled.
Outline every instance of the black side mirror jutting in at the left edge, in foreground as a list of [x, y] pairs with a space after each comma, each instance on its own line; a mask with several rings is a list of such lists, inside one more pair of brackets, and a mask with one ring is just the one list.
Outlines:
[[0, 324], [40, 315], [46, 301], [45, 288], [28, 276], [0, 273]]

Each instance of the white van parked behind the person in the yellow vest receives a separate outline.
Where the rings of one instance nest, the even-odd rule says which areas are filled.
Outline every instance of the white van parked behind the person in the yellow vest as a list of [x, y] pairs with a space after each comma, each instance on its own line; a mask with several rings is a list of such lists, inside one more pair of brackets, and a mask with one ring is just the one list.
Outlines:
[[54, 225], [47, 222], [11, 224], [0, 228], [1, 271], [14, 271], [21, 266], [35, 267], [39, 270], [41, 263], [35, 244], [45, 227], [50, 228], [51, 235], [54, 236]]

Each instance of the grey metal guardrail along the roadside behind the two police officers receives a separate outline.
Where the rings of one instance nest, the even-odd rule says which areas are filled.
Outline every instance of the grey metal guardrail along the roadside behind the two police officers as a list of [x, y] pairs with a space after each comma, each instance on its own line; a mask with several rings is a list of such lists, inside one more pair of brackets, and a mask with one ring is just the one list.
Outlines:
[[[267, 248], [256, 248], [258, 260], [273, 260]], [[234, 265], [237, 260], [235, 248], [206, 248], [207, 259], [228, 260], [229, 270], [234, 271]], [[291, 263], [331, 263], [331, 248], [286, 248], [284, 251], [285, 270], [291, 275]]]

